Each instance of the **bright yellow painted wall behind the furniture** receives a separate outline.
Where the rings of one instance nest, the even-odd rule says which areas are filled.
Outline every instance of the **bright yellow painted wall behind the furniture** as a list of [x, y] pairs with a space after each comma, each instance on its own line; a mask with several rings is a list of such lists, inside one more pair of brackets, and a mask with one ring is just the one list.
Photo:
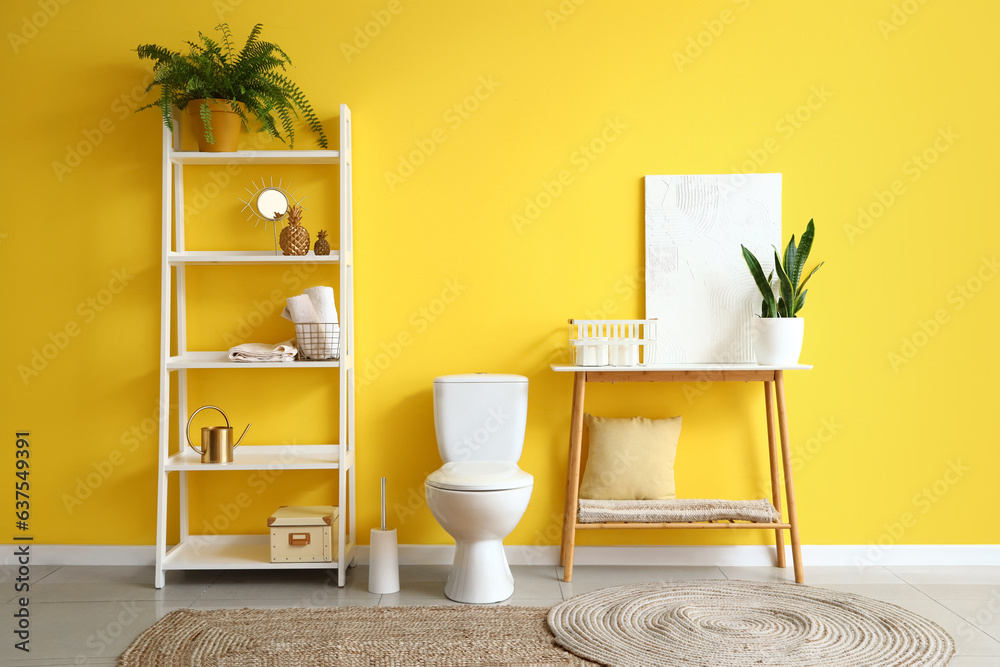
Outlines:
[[[815, 369], [788, 380], [804, 542], [1000, 542], [981, 518], [1000, 470], [996, 3], [178, 0], [154, 12], [124, 0], [9, 0], [0, 484], [7, 506], [14, 433], [29, 429], [39, 542], [154, 541], [160, 121], [130, 113], [151, 99], [131, 49], [179, 47], [220, 18], [238, 37], [265, 24], [334, 143], [338, 105], [354, 114], [362, 543], [378, 521], [381, 475], [401, 542], [448, 541], [422, 502], [439, 465], [430, 389], [436, 375], [469, 371], [530, 378], [521, 465], [536, 483], [509, 542], [557, 542], [570, 378], [548, 364], [565, 359], [565, 321], [643, 315], [644, 175], [732, 171], [782, 172], [784, 236], [815, 218], [814, 257], [827, 262], [803, 311], [803, 360]], [[377, 34], [360, 37], [366, 29]], [[444, 140], [430, 139], [431, 152], [435, 136]], [[300, 134], [301, 147], [310, 141]], [[401, 161], [420, 164], [410, 174]], [[567, 184], [549, 201], [546, 183], [563, 170]], [[245, 222], [237, 197], [270, 175], [309, 195], [314, 233], [335, 224], [322, 171], [246, 168], [221, 189], [212, 174], [188, 182], [189, 199], [201, 196], [192, 243], [268, 247], [270, 232]], [[536, 213], [528, 224], [515, 217]], [[226, 272], [191, 272], [201, 323], [192, 346], [222, 347], [274, 289], [290, 296], [333, 279]], [[440, 310], [451, 284], [458, 295]], [[251, 339], [287, 333], [276, 314], [265, 319]], [[409, 344], [394, 347], [400, 336]], [[25, 374], [36, 352], [53, 358]], [[252, 420], [258, 444], [335, 432], [335, 395], [319, 371], [253, 376], [266, 378], [259, 385], [246, 373], [192, 374], [192, 404]], [[757, 387], [602, 386], [590, 398], [606, 416], [684, 415], [682, 497], [761, 494]], [[263, 532], [277, 505], [335, 489], [299, 473], [230, 472], [193, 486], [193, 525], [229, 532]], [[248, 506], [230, 520], [240, 493]]]

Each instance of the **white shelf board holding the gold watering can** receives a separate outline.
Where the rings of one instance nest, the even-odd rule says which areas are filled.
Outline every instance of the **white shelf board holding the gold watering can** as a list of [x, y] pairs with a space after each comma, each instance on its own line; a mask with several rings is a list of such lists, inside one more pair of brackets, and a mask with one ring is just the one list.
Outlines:
[[[352, 457], [347, 457], [350, 464]], [[202, 463], [201, 455], [185, 447], [167, 459], [164, 470], [225, 472], [227, 470], [336, 470], [340, 467], [337, 445], [247, 445], [233, 451], [232, 463]]]

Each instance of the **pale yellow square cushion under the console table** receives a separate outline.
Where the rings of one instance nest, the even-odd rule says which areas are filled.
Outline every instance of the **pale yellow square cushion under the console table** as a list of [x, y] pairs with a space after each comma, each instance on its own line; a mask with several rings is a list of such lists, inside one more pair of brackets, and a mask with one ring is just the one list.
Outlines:
[[681, 418], [612, 419], [584, 415], [590, 454], [580, 497], [591, 500], [671, 500]]

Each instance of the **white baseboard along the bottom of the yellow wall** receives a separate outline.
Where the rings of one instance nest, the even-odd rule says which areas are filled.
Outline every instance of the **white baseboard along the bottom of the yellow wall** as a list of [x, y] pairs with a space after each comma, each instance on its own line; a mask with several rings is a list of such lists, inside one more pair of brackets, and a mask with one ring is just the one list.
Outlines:
[[[29, 543], [30, 544], [30, 543]], [[17, 565], [15, 551], [20, 545], [0, 549], [4, 565]], [[508, 545], [504, 547], [511, 565], [555, 565], [558, 546]], [[32, 565], [152, 565], [152, 546], [105, 546], [30, 544]], [[449, 544], [401, 544], [402, 565], [449, 565], [455, 547]], [[724, 546], [580, 546], [573, 556], [576, 565], [774, 565], [774, 547], [752, 545]], [[791, 564], [791, 549], [787, 549]], [[809, 566], [906, 565], [1000, 566], [1000, 544], [894, 544], [875, 545], [804, 545], [802, 561]], [[358, 562], [368, 562], [368, 546], [358, 546]]]

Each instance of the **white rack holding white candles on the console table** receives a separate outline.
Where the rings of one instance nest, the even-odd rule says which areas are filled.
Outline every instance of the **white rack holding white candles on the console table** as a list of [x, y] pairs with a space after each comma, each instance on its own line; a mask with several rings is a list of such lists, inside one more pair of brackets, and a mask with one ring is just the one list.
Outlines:
[[570, 320], [576, 366], [648, 366], [656, 352], [656, 320]]

